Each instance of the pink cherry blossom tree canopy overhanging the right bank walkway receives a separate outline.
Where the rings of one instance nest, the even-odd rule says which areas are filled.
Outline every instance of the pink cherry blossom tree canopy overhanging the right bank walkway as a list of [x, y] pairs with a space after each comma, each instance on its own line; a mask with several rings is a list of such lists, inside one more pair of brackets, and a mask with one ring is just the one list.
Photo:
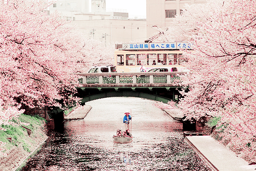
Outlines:
[[256, 160], [255, 7], [248, 0], [187, 6], [165, 33], [194, 47], [183, 51], [191, 73], [183, 77], [189, 92], [181, 92], [178, 108], [187, 119], [220, 116], [222, 142], [250, 162]]

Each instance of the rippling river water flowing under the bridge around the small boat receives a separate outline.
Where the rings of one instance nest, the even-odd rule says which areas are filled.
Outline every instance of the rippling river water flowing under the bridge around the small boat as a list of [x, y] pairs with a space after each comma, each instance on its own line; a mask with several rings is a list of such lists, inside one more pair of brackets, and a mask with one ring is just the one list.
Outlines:
[[[66, 121], [23, 170], [210, 170], [183, 141], [182, 124], [153, 105], [132, 97], [87, 102], [83, 120]], [[112, 136], [131, 111], [133, 142]]]

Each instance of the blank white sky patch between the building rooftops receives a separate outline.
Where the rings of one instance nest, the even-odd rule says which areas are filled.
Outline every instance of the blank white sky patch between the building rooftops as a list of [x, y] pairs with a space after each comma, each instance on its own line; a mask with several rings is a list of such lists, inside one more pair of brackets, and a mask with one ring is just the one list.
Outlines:
[[[129, 13], [129, 17], [144, 16], [146, 18], [146, 0], [105, 0], [106, 10], [122, 9]], [[125, 11], [120, 11], [125, 12]], [[140, 18], [140, 17], [138, 17]]]

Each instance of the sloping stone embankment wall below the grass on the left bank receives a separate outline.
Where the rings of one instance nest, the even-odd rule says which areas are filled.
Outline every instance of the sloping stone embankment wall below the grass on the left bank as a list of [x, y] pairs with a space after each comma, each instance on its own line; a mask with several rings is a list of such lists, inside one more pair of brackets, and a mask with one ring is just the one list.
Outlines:
[[[31, 155], [33, 152], [44, 143], [48, 136], [46, 135], [46, 123], [33, 131], [30, 136], [27, 135], [26, 143], [29, 145], [30, 152], [25, 151], [22, 146], [13, 146], [6, 151], [7, 156], [0, 156], [0, 170], [1, 171], [14, 171]], [[31, 142], [32, 140], [32, 142]]]

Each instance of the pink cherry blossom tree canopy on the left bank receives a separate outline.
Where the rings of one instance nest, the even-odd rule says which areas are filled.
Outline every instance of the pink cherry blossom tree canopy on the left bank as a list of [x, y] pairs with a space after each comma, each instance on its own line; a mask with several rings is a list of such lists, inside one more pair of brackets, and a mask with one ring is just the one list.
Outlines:
[[73, 95], [78, 76], [70, 73], [112, 60], [111, 48], [74, 34], [67, 20], [44, 11], [49, 5], [0, 2], [0, 126], [14, 124], [10, 120], [24, 112], [21, 104], [34, 108], [77, 103]]

